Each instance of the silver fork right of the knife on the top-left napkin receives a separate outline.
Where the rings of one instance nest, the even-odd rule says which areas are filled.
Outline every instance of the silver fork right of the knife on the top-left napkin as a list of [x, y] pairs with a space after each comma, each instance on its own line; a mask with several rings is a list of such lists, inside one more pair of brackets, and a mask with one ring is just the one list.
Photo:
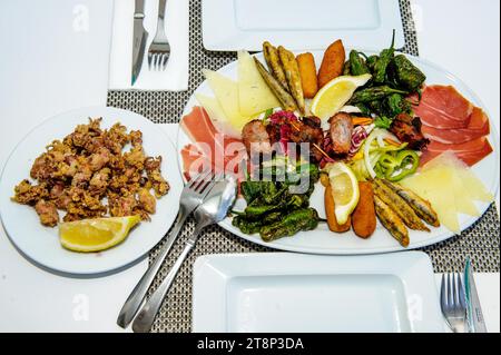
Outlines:
[[170, 45], [165, 34], [165, 8], [167, 0], [160, 0], [158, 6], [157, 33], [148, 49], [148, 68], [165, 70], [170, 56]]

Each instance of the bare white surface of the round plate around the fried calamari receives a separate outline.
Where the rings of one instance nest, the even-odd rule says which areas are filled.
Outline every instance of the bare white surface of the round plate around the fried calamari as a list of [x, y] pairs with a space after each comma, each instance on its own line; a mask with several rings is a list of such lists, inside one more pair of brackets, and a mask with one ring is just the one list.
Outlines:
[[[40, 225], [32, 207], [11, 201], [13, 188], [29, 178], [35, 159], [55, 139], [62, 139], [88, 118], [102, 117], [101, 127], [120, 122], [130, 130], [143, 132], [147, 156], [161, 156], [161, 174], [170, 185], [169, 193], [157, 200], [151, 221], [141, 221], [127, 239], [100, 253], [73, 253], [59, 244], [58, 228]], [[29, 132], [10, 155], [0, 180], [0, 216], [9, 238], [27, 256], [49, 269], [65, 274], [92, 275], [116, 270], [147, 254], [170, 228], [177, 216], [183, 179], [176, 161], [176, 149], [169, 137], [147, 118], [109, 107], [82, 108], [46, 120]], [[62, 217], [62, 215], [60, 214]]]

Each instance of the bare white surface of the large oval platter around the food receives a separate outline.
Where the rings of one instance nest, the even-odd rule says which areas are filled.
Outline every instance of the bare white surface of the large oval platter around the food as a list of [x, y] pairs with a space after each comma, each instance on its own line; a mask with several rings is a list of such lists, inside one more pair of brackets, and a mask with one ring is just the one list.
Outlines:
[[[365, 51], [371, 53], [371, 51]], [[317, 68], [322, 62], [323, 51], [312, 51], [315, 57]], [[263, 55], [258, 53], [256, 57], [264, 62]], [[416, 65], [425, 75], [428, 85], [452, 85], [454, 86], [465, 98], [468, 98], [475, 106], [481, 107], [488, 115], [489, 111], [485, 109], [482, 101], [477, 97], [477, 95], [468, 88], [468, 86], [460, 79], [455, 78], [453, 75], [446, 70], [426, 61], [421, 58], [413, 56], [407, 56], [410, 60]], [[227, 66], [218, 70], [222, 75], [237, 79], [237, 61], [233, 61]], [[203, 93], [207, 96], [214, 96], [207, 81], [204, 81], [195, 91], [195, 93]], [[195, 96], [188, 100], [186, 105], [185, 112], [183, 116], [190, 112], [194, 106], [198, 105]], [[491, 117], [491, 116], [490, 116]], [[494, 125], [491, 124], [491, 135], [489, 136], [489, 141], [491, 142], [494, 151], [485, 157], [480, 162], [472, 167], [473, 172], [479, 177], [487, 189], [491, 191], [494, 196], [499, 188], [499, 161], [500, 161], [500, 147], [498, 132], [495, 131]], [[177, 137], [177, 150], [179, 167], [183, 168], [183, 159], [180, 156], [180, 150], [187, 144], [191, 142], [183, 129], [179, 128]], [[318, 210], [320, 215], [325, 216], [324, 211], [324, 199], [323, 199], [323, 188], [318, 186], [311, 198], [311, 205]], [[237, 201], [237, 207], [242, 205], [242, 201]], [[479, 203], [478, 209], [482, 215], [488, 208], [489, 204]], [[466, 229], [473, 223], [475, 223], [480, 217], [471, 217], [465, 215], [460, 215], [460, 226], [461, 230]], [[399, 243], [393, 239], [387, 230], [385, 230], [381, 225], [377, 226], [377, 230], [369, 239], [361, 239], [355, 236], [353, 230], [345, 234], [334, 234], [328, 230], [325, 224], [321, 224], [317, 229], [311, 231], [302, 231], [293, 237], [282, 238], [273, 243], [265, 243], [261, 239], [258, 235], [246, 235], [242, 233], [237, 227], [232, 225], [232, 219], [226, 218], [219, 225], [233, 234], [257, 243], [271, 248], [288, 250], [288, 252], [299, 252], [299, 253], [311, 253], [311, 254], [331, 254], [331, 255], [355, 255], [355, 254], [377, 254], [387, 252], [400, 252], [404, 250]], [[448, 230], [445, 227], [433, 228], [431, 233], [410, 230], [411, 244], [409, 249], [420, 248], [435, 243], [440, 243], [448, 238], [453, 237], [454, 234]]]

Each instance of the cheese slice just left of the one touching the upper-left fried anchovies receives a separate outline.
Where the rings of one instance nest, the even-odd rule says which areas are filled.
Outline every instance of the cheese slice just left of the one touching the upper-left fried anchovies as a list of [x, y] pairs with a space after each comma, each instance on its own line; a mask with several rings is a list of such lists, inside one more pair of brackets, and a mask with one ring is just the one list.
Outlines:
[[250, 120], [240, 114], [238, 83], [213, 70], [203, 70], [210, 89], [213, 89], [229, 125], [238, 132]]

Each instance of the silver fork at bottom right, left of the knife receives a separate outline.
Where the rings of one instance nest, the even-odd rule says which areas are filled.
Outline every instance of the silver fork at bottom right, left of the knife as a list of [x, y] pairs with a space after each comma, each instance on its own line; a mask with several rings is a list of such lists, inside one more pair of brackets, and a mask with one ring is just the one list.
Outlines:
[[466, 331], [466, 299], [459, 273], [442, 275], [440, 305], [452, 332], [464, 333]]

